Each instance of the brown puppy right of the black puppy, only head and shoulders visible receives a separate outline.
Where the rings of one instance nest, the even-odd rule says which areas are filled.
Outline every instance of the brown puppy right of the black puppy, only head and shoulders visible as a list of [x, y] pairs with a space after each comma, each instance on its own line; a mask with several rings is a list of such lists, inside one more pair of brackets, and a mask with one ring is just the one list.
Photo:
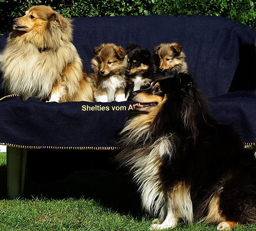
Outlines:
[[154, 60], [157, 66], [155, 79], [163, 78], [163, 71], [171, 69], [177, 73], [187, 73], [187, 63], [182, 45], [177, 42], [161, 43], [154, 48]]

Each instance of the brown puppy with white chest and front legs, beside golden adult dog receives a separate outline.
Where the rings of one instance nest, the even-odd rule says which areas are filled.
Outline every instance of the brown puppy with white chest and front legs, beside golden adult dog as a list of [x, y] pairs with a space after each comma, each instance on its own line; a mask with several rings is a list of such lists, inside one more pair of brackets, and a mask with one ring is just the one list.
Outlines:
[[97, 102], [125, 100], [127, 57], [125, 50], [114, 43], [94, 47], [90, 82]]

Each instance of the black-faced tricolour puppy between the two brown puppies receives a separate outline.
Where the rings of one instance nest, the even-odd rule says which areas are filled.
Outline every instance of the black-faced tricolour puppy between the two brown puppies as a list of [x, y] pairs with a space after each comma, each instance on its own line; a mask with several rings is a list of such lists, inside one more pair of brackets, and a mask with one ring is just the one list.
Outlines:
[[139, 45], [130, 44], [127, 46], [127, 69], [128, 87], [127, 92], [140, 90], [150, 86], [156, 72], [156, 66], [151, 53]]

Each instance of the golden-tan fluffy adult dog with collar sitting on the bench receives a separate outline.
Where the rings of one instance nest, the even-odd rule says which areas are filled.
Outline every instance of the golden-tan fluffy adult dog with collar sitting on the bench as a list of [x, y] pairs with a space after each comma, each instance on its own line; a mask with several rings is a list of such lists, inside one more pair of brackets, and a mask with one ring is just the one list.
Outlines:
[[71, 19], [48, 6], [35, 6], [13, 23], [0, 57], [3, 85], [9, 93], [57, 102], [93, 100], [71, 43]]

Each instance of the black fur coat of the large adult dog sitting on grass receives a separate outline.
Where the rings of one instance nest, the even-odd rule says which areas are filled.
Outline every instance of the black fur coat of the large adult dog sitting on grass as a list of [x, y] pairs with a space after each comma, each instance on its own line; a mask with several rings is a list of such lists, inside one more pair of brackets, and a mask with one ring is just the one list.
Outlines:
[[[194, 221], [208, 214], [207, 199], [219, 190], [219, 209], [227, 220], [255, 223], [256, 159], [253, 151], [244, 148], [240, 136], [230, 125], [217, 122], [208, 113], [205, 100], [189, 74], [166, 75], [169, 78], [137, 91], [150, 94], [159, 82], [167, 100], [150, 124], [151, 134], [146, 136], [147, 140], [121, 141], [123, 150], [117, 159], [122, 165], [133, 167], [136, 155], [141, 157], [138, 148], [150, 147], [160, 137], [175, 134], [172, 141], [175, 153], [172, 156], [167, 153], [161, 160], [162, 187], [169, 192], [180, 181], [190, 186]], [[134, 119], [141, 113], [137, 112]]]

